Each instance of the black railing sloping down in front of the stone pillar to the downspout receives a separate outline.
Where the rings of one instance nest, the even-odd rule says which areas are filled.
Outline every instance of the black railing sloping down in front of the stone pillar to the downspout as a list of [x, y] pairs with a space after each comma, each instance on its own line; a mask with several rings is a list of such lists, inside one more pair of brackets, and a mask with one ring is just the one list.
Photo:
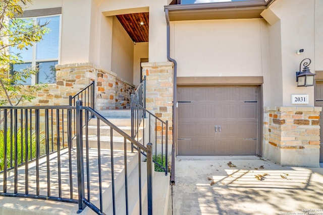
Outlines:
[[[135, 110], [134, 112], [141, 113], [142, 116], [145, 116], [144, 120], [141, 120], [140, 124], [134, 125], [133, 129], [136, 134], [134, 138], [137, 139], [137, 141], [141, 141], [143, 145], [145, 142], [152, 143], [152, 162], [155, 164], [155, 169], [160, 172], [165, 172], [165, 175], [167, 175], [168, 171], [170, 171], [170, 167], [168, 165], [168, 120], [161, 120], [137, 103], [133, 103], [132, 105]], [[139, 119], [135, 119], [135, 121], [139, 121]], [[145, 133], [146, 127], [148, 127], [147, 133]], [[139, 140], [139, 136], [142, 137], [141, 140]], [[137, 149], [135, 146], [132, 147]], [[144, 154], [144, 156], [146, 155]]]

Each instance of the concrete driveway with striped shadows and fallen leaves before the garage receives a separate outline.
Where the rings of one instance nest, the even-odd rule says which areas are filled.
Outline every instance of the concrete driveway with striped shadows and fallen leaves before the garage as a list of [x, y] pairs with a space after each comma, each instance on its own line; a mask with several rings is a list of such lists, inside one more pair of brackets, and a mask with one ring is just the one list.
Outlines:
[[256, 156], [176, 158], [173, 214], [322, 214], [323, 168]]

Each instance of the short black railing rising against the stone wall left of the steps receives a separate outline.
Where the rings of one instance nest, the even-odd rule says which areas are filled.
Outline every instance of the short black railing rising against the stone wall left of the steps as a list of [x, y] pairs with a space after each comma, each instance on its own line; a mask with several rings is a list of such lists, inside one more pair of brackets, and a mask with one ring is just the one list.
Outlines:
[[[89, 84], [87, 87], [85, 87], [83, 90], [75, 94], [74, 96], [69, 96], [69, 105], [70, 106], [76, 106], [76, 101], [82, 101], [84, 106], [91, 107], [94, 109], [95, 106], [95, 85], [94, 81], [92, 81], [91, 84]], [[75, 121], [75, 109], [72, 112], [72, 134], [73, 138], [76, 136], [76, 133], [74, 132], [76, 130], [76, 121]], [[89, 115], [88, 120], [90, 120], [93, 117], [93, 115]]]

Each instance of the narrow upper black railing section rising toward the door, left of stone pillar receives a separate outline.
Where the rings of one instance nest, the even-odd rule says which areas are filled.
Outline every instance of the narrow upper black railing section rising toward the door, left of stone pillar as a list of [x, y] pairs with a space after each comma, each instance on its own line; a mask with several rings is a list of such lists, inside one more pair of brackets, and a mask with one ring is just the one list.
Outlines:
[[137, 135], [136, 127], [139, 127], [144, 118], [144, 110], [137, 108], [135, 104], [146, 108], [146, 76], [138, 86], [134, 94], [131, 94], [131, 136], [134, 138]]

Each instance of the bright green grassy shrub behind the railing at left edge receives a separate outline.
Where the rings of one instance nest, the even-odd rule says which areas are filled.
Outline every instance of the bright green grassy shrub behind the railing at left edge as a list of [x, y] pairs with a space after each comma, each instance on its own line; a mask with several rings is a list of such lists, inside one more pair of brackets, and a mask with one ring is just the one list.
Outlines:
[[[30, 129], [30, 128], [29, 128]], [[28, 142], [27, 142], [27, 146], [28, 146], [28, 161], [35, 158], [36, 157], [36, 132], [35, 130], [32, 130], [31, 132], [31, 142], [30, 142], [30, 130], [28, 129]], [[22, 131], [22, 132], [21, 132]], [[22, 135], [22, 144], [21, 144], [21, 135]], [[12, 136], [11, 136], [11, 130], [8, 129], [7, 130], [7, 143], [5, 143], [5, 134], [4, 134], [4, 130], [0, 130], [0, 171], [4, 170], [4, 165], [5, 165], [5, 144], [7, 144], [7, 167], [10, 167], [10, 159], [11, 159], [11, 138], [13, 140], [12, 142], [12, 165], [15, 165], [15, 134], [13, 132]], [[43, 155], [44, 152], [44, 142], [45, 142], [45, 134], [42, 132], [39, 134], [39, 142], [40, 142], [40, 155]], [[18, 151], [18, 165], [21, 163], [25, 163], [25, 151], [26, 151], [26, 147], [25, 147], [25, 128], [18, 128], [17, 129], [17, 151]], [[30, 145], [32, 146], [32, 153], [31, 156], [32, 158], [30, 158]], [[23, 156], [23, 160], [21, 161], [21, 155]]]

